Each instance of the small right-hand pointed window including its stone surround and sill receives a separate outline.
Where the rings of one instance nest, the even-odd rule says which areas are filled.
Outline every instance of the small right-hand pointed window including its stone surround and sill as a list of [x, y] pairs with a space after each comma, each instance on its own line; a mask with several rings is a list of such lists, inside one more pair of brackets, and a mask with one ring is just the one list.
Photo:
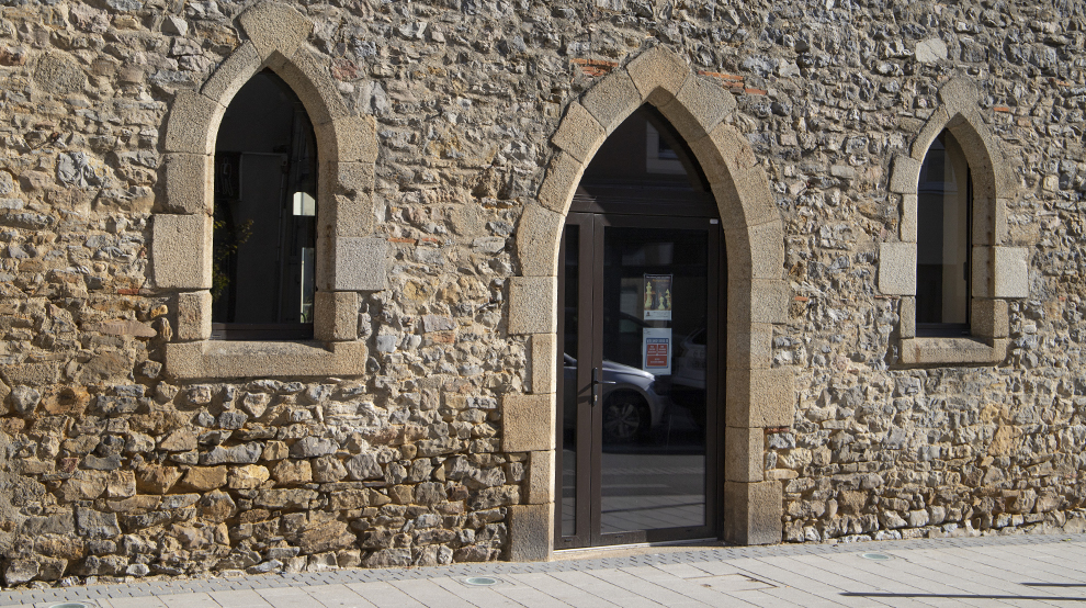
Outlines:
[[879, 291], [900, 296], [902, 365], [992, 364], [1006, 358], [1009, 303], [1029, 296], [1029, 249], [1009, 234], [1020, 183], [981, 114], [974, 83], [954, 78], [890, 191], [900, 233], [879, 245]]

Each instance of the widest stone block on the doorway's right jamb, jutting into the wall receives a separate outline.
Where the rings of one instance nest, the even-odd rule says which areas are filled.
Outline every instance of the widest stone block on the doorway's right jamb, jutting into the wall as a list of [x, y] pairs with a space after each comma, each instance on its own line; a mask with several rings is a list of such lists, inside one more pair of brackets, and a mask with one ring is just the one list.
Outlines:
[[788, 368], [727, 370], [727, 426], [790, 427], [795, 421], [794, 374]]

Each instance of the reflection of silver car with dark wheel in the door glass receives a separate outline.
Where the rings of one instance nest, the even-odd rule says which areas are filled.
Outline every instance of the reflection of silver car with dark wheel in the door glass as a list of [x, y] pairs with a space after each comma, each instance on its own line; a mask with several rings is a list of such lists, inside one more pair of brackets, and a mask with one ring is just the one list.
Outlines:
[[[629, 443], [644, 438], [664, 419], [667, 401], [656, 392], [653, 374], [603, 360], [603, 441]], [[563, 419], [572, 431], [577, 421], [577, 360], [563, 353]]]

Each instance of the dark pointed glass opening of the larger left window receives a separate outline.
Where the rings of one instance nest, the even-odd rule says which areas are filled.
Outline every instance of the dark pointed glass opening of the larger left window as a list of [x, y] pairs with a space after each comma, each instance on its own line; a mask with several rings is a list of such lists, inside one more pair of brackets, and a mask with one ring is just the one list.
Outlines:
[[238, 91], [215, 146], [212, 337], [313, 337], [316, 136], [270, 70]]

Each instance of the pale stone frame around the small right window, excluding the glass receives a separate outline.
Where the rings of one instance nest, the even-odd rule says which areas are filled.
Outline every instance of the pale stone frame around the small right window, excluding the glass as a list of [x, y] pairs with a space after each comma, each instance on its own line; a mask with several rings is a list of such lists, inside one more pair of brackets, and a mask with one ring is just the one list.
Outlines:
[[[1011, 246], [1007, 232], [1007, 207], [1020, 187], [980, 113], [973, 82], [947, 81], [939, 101], [909, 153], [894, 157], [889, 189], [902, 196], [902, 221], [898, 240], [880, 245], [879, 290], [902, 296], [901, 364], [997, 363], [1009, 342], [1007, 301], [1029, 296], [1029, 250]], [[916, 337], [917, 185], [928, 148], [943, 130], [961, 145], [973, 181], [970, 338]]]

